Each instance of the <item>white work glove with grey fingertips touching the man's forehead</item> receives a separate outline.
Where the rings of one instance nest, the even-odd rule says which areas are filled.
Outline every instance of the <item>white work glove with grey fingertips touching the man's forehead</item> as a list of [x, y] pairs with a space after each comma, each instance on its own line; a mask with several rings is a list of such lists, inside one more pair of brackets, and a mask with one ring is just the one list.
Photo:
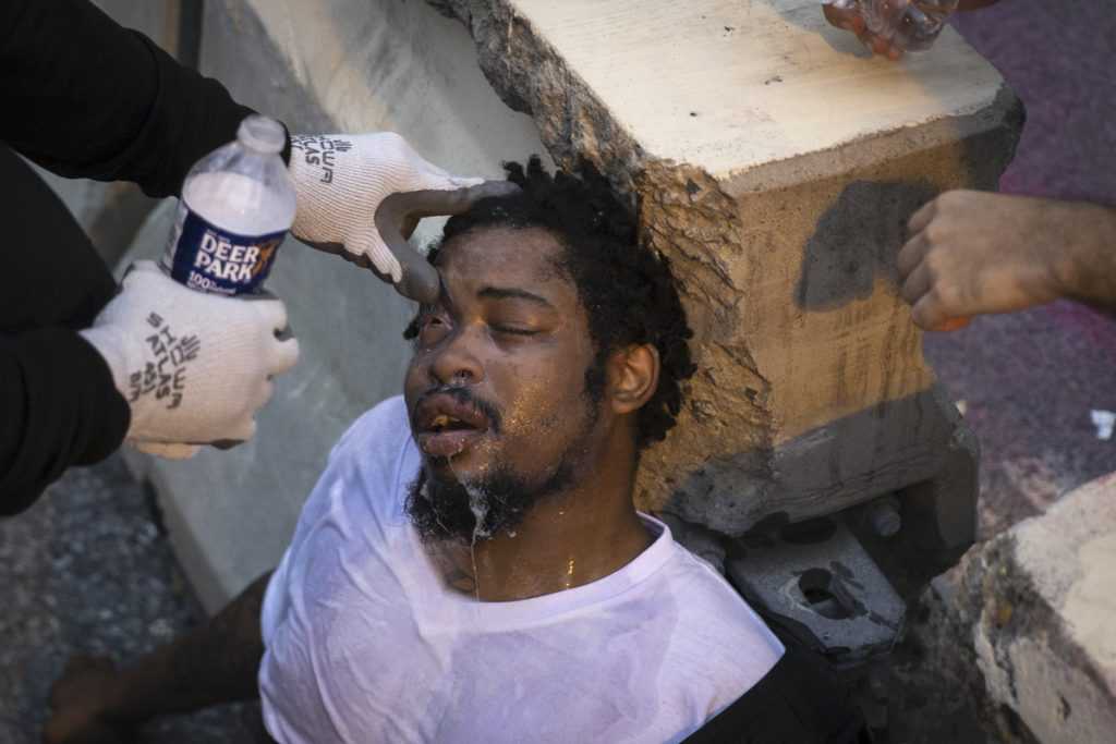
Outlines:
[[[436, 300], [439, 286], [425, 259], [406, 245], [417, 220], [458, 214], [478, 199], [509, 193], [506, 182], [485, 184], [483, 178], [446, 173], [391, 132], [295, 135], [289, 171], [298, 195], [291, 228], [296, 238], [372, 269], [403, 294], [422, 301]], [[392, 214], [379, 212], [391, 195], [410, 192], [443, 194], [425, 194]]]

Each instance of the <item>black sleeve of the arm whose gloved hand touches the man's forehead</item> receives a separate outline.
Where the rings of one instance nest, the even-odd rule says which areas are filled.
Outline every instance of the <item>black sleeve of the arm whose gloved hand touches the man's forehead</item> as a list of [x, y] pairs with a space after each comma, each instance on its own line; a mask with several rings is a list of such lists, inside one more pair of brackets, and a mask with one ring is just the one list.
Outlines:
[[87, 0], [0, 2], [0, 139], [59, 175], [177, 194], [252, 113]]

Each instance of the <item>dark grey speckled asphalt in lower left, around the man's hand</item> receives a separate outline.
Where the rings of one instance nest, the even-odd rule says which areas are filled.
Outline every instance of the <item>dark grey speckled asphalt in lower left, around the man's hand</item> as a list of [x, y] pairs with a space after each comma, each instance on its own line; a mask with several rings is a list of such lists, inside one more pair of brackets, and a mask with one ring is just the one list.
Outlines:
[[[152, 503], [113, 457], [75, 468], [31, 510], [0, 521], [0, 742], [31, 744], [47, 694], [73, 654], [127, 661], [202, 613], [161, 533]], [[167, 719], [140, 744], [252, 744], [241, 719], [215, 709]]]

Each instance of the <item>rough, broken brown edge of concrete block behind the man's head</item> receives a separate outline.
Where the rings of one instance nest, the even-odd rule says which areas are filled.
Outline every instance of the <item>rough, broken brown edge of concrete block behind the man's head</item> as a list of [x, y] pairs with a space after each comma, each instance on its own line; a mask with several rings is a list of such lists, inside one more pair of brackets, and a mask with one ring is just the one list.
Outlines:
[[[687, 164], [648, 156], [618, 124], [589, 86], [569, 69], [529, 19], [502, 0], [427, 0], [460, 19], [477, 44], [485, 77], [501, 99], [532, 116], [555, 162], [566, 168], [593, 165], [638, 209], [643, 239], [671, 261], [695, 331], [695, 363], [703, 369], [733, 369], [734, 387], [702, 385], [701, 399], [686, 395], [680, 429], [715, 409], [730, 431], [752, 432], [749, 473], [772, 477], [772, 426], [766, 400], [770, 389], [739, 326], [742, 288], [734, 286], [723, 255], [743, 241], [732, 196], [712, 175]], [[745, 379], [740, 379], [740, 371]], [[693, 381], [691, 383], [693, 385]], [[676, 429], [677, 431], [677, 429]], [[672, 434], [676, 435], [676, 431]], [[648, 481], [670, 470], [663, 447], [653, 447], [637, 502], [647, 502]]]

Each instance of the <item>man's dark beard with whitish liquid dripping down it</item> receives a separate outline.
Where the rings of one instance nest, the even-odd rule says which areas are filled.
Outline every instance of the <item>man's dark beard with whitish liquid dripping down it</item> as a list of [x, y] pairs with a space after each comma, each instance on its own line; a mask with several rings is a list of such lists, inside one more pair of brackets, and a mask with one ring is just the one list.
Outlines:
[[504, 466], [468, 483], [432, 477], [423, 467], [410, 486], [406, 511], [424, 542], [472, 543], [514, 532], [536, 504], [573, 482], [574, 467], [565, 455], [535, 486]]

